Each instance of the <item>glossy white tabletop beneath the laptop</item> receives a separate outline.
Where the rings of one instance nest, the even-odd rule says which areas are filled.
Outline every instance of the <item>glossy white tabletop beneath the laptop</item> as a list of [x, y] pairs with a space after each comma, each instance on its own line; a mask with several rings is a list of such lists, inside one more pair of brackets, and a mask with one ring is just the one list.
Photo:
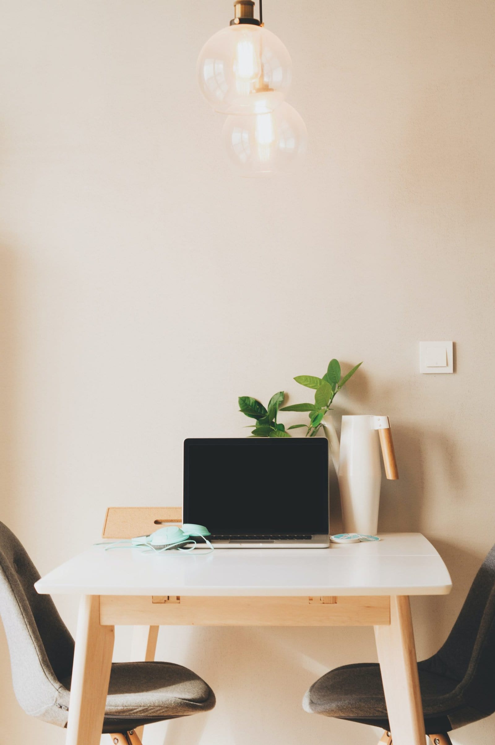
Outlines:
[[447, 567], [421, 533], [331, 548], [143, 552], [93, 546], [42, 577], [49, 595], [445, 595]]

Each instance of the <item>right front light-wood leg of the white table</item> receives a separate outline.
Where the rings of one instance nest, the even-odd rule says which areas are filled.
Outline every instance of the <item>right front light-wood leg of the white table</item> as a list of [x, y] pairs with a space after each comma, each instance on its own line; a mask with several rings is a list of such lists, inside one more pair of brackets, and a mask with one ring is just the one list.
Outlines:
[[424, 745], [423, 708], [409, 597], [390, 597], [390, 625], [375, 626], [393, 745]]

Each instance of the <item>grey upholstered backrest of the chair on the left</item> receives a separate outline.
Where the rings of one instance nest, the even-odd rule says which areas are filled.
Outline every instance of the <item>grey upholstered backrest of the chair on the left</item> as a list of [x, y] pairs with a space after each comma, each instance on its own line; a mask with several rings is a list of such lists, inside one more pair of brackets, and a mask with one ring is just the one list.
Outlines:
[[38, 595], [38, 571], [21, 542], [0, 522], [0, 615], [10, 652], [16, 698], [40, 719], [67, 720], [54, 710], [60, 680], [71, 676], [74, 640], [49, 595]]

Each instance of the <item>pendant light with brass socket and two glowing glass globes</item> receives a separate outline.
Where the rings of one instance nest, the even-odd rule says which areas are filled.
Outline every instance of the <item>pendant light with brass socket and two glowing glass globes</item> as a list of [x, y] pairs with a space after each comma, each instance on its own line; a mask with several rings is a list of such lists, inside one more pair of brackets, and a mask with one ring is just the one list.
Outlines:
[[234, 18], [202, 48], [198, 82], [208, 103], [227, 114], [224, 145], [245, 176], [272, 174], [305, 150], [302, 118], [285, 103], [291, 86], [291, 57], [264, 28], [253, 0], [235, 0]]

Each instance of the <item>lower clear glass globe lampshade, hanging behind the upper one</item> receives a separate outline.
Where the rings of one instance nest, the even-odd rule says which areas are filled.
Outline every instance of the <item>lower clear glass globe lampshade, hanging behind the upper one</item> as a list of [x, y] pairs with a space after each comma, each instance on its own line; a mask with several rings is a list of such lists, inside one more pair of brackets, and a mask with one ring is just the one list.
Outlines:
[[305, 153], [308, 133], [297, 111], [282, 103], [272, 112], [228, 116], [224, 145], [242, 176], [282, 171]]

